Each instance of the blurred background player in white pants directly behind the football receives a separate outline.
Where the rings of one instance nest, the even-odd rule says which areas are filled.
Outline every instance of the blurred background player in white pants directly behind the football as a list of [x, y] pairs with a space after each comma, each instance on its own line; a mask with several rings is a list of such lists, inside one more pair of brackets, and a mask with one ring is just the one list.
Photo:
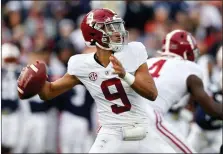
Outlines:
[[[28, 64], [41, 59], [46, 64], [49, 64], [49, 48], [45, 43], [38, 43], [39, 48], [28, 55]], [[48, 70], [49, 71], [49, 70]], [[48, 128], [48, 114], [50, 103], [44, 103], [38, 95], [30, 99], [24, 100], [23, 114], [21, 116], [22, 128], [19, 134], [19, 142], [17, 143], [15, 153], [44, 153], [46, 152], [47, 130], [53, 132], [53, 129]]]

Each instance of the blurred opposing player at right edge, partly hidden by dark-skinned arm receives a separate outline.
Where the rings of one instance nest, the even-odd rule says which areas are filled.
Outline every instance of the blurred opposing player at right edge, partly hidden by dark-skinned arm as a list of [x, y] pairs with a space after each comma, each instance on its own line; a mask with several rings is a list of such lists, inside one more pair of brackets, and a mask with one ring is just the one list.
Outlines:
[[[214, 103], [222, 103], [222, 47], [220, 47], [216, 53], [215, 61], [213, 61], [213, 59], [214, 57], [212, 58], [211, 66], [208, 65], [207, 62], [206, 65], [204, 65], [204, 62], [202, 63], [203, 65], [201, 65], [203, 66], [203, 73], [207, 80], [205, 89], [210, 97], [212, 97]], [[218, 153], [222, 145], [222, 127], [222, 120], [210, 117], [197, 105], [194, 113], [194, 122], [191, 126], [190, 134], [188, 135], [188, 141], [198, 152]], [[197, 140], [200, 142], [195, 144]]]

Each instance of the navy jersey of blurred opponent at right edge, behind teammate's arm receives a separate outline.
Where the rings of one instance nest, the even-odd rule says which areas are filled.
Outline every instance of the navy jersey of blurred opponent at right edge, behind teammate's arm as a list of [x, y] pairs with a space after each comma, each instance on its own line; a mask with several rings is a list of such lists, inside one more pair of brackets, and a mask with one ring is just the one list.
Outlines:
[[[213, 93], [215, 103], [222, 103], [222, 92]], [[198, 105], [195, 112], [196, 123], [205, 130], [216, 130], [223, 126], [223, 121], [213, 118], [206, 114], [204, 110]]]

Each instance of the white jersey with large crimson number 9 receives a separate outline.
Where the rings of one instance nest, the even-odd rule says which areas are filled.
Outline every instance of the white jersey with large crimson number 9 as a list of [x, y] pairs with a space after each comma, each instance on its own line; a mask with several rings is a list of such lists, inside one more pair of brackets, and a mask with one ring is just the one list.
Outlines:
[[[94, 58], [95, 53], [72, 56], [68, 62], [68, 74], [75, 75], [87, 88], [97, 104], [99, 122], [102, 126], [115, 127], [133, 123], [145, 123], [144, 98], [138, 95], [117, 74], [112, 74], [110, 62], [107, 67]], [[147, 52], [140, 42], [131, 42], [114, 56], [122, 66], [133, 74], [146, 63]]]

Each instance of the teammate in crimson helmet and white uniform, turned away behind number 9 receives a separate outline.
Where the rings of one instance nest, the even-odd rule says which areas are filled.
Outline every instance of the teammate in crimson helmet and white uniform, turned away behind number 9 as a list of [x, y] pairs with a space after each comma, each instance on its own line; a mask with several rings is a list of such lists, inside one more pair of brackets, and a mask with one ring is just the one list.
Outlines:
[[[184, 99], [184, 97], [186, 97], [186, 101], [184, 102], [187, 103], [189, 95], [191, 95], [206, 113], [213, 116], [213, 118], [223, 120], [222, 104], [215, 104], [208, 93], [205, 92], [202, 81], [203, 72], [199, 65], [195, 63], [199, 56], [199, 49], [196, 40], [190, 33], [184, 30], [171, 31], [164, 38], [162, 51], [159, 53], [159, 57], [147, 60], [149, 72], [155, 80], [159, 93], [155, 103], [151, 103], [151, 106], [154, 107], [156, 113], [157, 129], [161, 134], [166, 136], [167, 142], [169, 140], [169, 142], [173, 141], [173, 143], [178, 143], [174, 147], [174, 149], [179, 150], [177, 152], [180, 152], [181, 150], [181, 152], [188, 152], [187, 145], [190, 145], [190, 142], [185, 145], [185, 143], [178, 142], [177, 138], [180, 138], [181, 135], [182, 139], [186, 139], [185, 137], [189, 131], [188, 123], [193, 118], [191, 113], [187, 113], [189, 116], [185, 116], [185, 113], [182, 113], [181, 110], [181, 115], [184, 114], [184, 118], [188, 117], [186, 123], [184, 122], [186, 124], [184, 125], [184, 128], [180, 125], [174, 125], [180, 124], [180, 122], [172, 122], [171, 127], [166, 124], [165, 121], [162, 122], [162, 117], [166, 115], [171, 107], [173, 108], [173, 105], [176, 102], [182, 101], [182, 98]], [[185, 106], [186, 104], [181, 105]], [[171, 131], [174, 132], [174, 127], [176, 126], [182, 129], [180, 130], [178, 128], [178, 131], [180, 132], [178, 133], [179, 137], [171, 134]], [[184, 129], [187, 130], [186, 133], [184, 132]], [[220, 146], [218, 147], [218, 151], [219, 148]]]

